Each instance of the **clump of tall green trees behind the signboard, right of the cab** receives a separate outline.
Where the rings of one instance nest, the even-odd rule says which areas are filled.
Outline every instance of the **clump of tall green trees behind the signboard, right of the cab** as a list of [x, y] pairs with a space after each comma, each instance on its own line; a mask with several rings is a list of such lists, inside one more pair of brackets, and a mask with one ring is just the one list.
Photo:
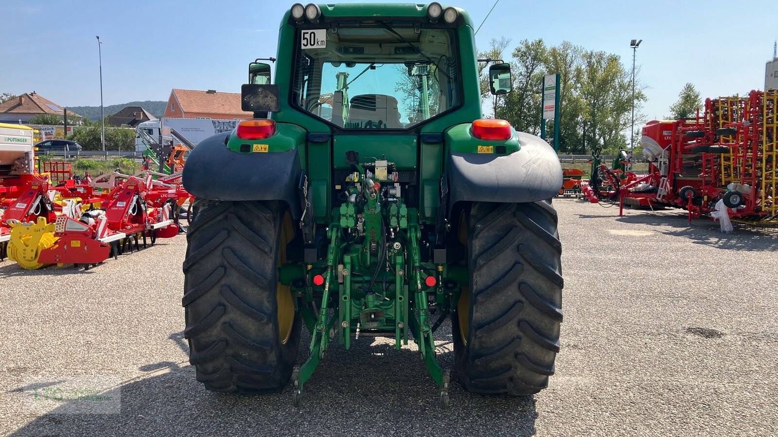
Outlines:
[[[478, 58], [502, 58], [500, 41], [510, 42], [504, 37], [492, 40], [490, 49], [479, 52]], [[559, 151], [587, 153], [602, 146], [605, 152], [615, 152], [627, 146], [632, 125], [633, 75], [619, 56], [587, 51], [569, 41], [548, 47], [543, 40], [522, 40], [513, 50], [510, 64], [513, 93], [492, 101], [496, 117], [510, 121], [518, 131], [538, 135], [543, 75], [559, 73]], [[487, 66], [478, 65], [482, 97], [489, 96]], [[645, 120], [640, 109], [646, 96], [637, 73], [635, 124], [639, 126]], [[551, 137], [553, 121], [546, 123], [546, 135]], [[639, 138], [636, 135], [636, 142]]]

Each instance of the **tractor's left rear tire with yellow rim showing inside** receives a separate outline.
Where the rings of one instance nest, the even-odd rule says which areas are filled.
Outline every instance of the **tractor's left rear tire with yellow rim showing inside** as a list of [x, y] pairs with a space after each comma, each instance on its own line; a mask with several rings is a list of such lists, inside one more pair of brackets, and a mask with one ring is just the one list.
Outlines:
[[193, 210], [182, 303], [197, 379], [213, 391], [281, 390], [301, 326], [293, 295], [278, 282], [289, 226], [294, 236], [286, 204], [197, 199]]

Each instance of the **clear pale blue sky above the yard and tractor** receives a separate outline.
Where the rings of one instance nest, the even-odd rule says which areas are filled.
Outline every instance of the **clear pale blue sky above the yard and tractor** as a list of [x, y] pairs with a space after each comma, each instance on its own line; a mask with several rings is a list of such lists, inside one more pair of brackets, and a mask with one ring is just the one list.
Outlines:
[[[103, 40], [106, 105], [167, 100], [172, 88], [239, 92], [254, 58], [275, 56], [279, 20], [293, 2], [2, 0], [0, 92], [40, 95], [65, 106], [99, 105], [95, 35]], [[481, 23], [492, 0], [460, 0]], [[128, 9], [131, 6], [131, 9]], [[476, 35], [569, 40], [619, 54], [637, 52], [649, 117], [668, 114], [685, 82], [705, 96], [764, 86], [778, 36], [774, 2], [517, 2], [500, 0]], [[717, 33], [720, 35], [717, 37]]]

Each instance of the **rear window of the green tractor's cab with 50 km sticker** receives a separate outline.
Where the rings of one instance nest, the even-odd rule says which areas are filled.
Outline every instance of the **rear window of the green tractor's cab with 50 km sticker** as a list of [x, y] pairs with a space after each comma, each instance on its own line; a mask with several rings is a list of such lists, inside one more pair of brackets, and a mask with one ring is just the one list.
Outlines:
[[[307, 32], [292, 103], [332, 128], [407, 130], [461, 103], [454, 30], [418, 23], [335, 24]], [[305, 33], [305, 31], [302, 31]]]

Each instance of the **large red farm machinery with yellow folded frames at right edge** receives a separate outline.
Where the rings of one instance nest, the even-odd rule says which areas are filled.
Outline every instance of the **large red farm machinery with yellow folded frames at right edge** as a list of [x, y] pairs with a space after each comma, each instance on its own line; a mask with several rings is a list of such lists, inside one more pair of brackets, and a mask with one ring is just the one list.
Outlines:
[[778, 91], [752, 91], [708, 99], [696, 117], [650, 121], [641, 139], [647, 175], [601, 169], [588, 191], [621, 207], [684, 208], [689, 220], [717, 210], [745, 222], [776, 219], [776, 110]]

